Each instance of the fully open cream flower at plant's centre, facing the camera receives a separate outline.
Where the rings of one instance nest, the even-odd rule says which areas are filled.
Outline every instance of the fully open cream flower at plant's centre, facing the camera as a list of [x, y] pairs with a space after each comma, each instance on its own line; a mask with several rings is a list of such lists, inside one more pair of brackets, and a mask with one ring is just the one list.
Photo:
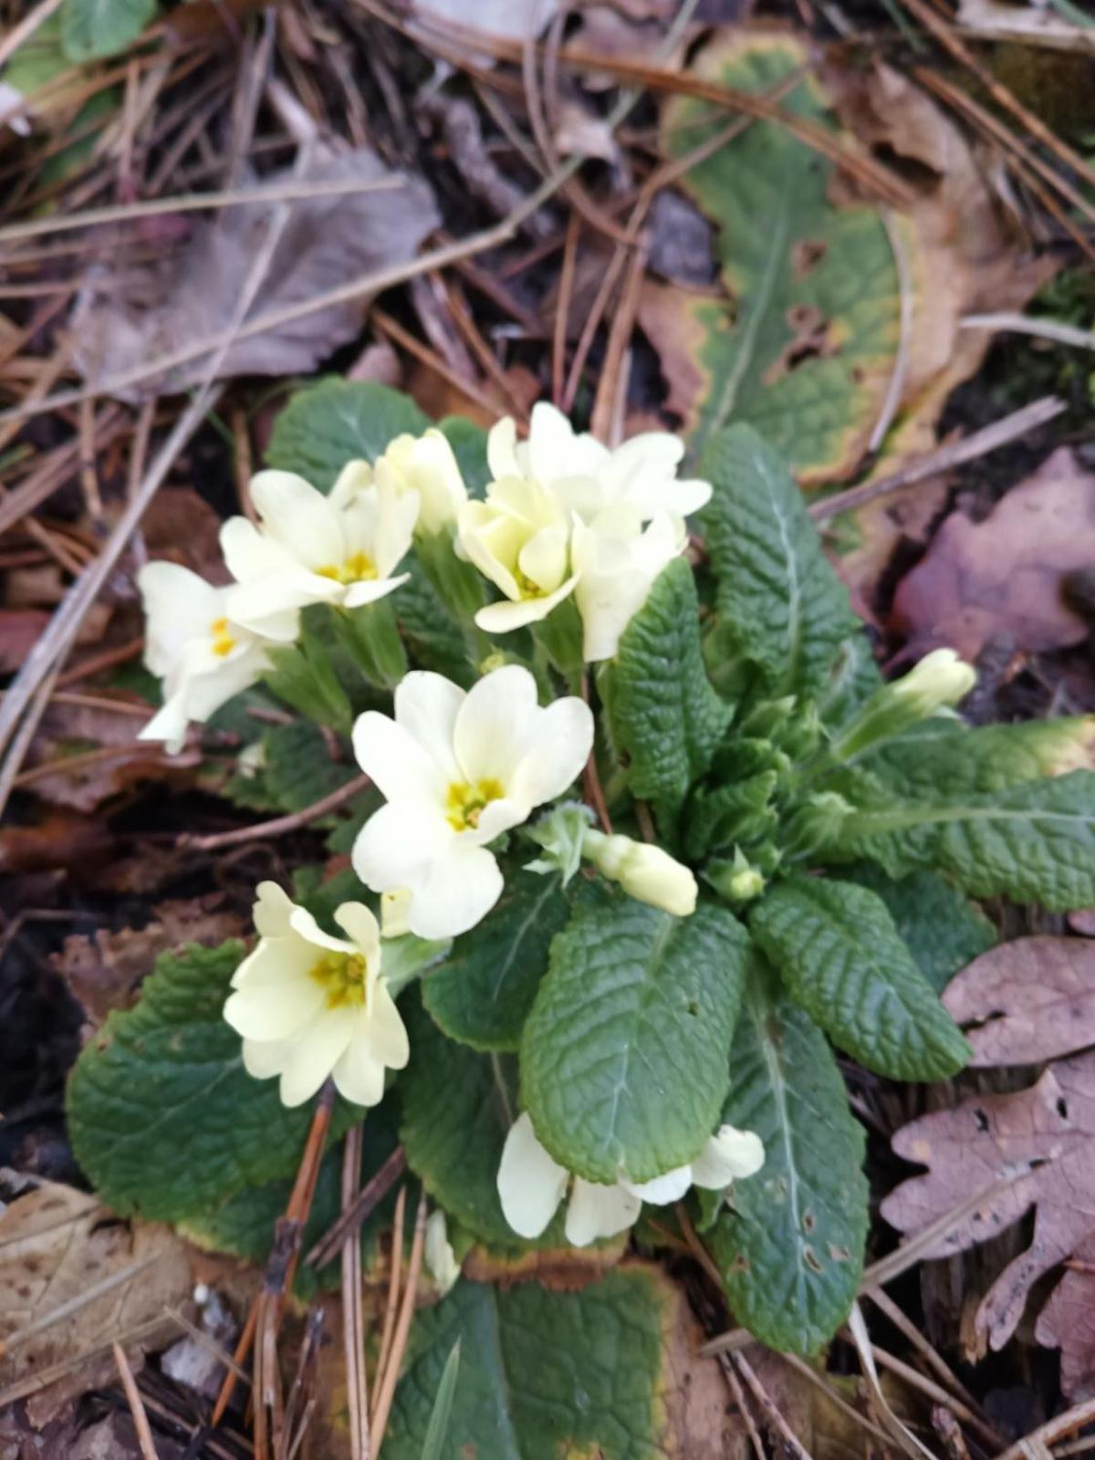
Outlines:
[[502, 891], [488, 844], [555, 800], [593, 748], [593, 714], [575, 696], [542, 708], [520, 664], [464, 692], [415, 670], [396, 688], [396, 718], [368, 711], [353, 727], [361, 768], [387, 799], [353, 844], [353, 870], [374, 892], [406, 891], [419, 937], [456, 937]]

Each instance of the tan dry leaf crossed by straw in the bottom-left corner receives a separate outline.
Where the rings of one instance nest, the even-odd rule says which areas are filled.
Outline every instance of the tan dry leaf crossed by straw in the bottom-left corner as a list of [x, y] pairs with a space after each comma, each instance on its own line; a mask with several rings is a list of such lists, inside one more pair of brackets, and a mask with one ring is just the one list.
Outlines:
[[111, 1383], [111, 1342], [134, 1356], [177, 1333], [165, 1308], [187, 1304], [193, 1283], [190, 1250], [166, 1226], [121, 1222], [54, 1183], [16, 1197], [0, 1216], [0, 1407], [28, 1399], [42, 1425]]

